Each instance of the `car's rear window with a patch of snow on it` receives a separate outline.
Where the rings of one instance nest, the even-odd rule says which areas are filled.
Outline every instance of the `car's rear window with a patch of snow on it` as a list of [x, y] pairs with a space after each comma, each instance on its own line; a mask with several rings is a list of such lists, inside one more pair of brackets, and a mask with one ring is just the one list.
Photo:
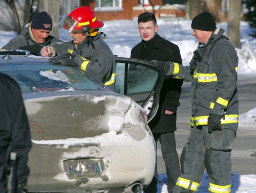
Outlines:
[[23, 92], [98, 89], [81, 71], [61, 65], [24, 64], [1, 66], [1, 72], [17, 81]]

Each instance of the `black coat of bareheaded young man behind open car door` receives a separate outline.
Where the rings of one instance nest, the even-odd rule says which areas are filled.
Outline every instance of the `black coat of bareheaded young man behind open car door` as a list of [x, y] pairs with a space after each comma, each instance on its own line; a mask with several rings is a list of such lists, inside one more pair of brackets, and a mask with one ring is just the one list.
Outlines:
[[[131, 58], [143, 60], [172, 61], [182, 63], [179, 47], [158, 34], [145, 42], [142, 40], [131, 51]], [[157, 115], [151, 120], [149, 126], [152, 133], [166, 133], [176, 131], [176, 113], [166, 115], [165, 110], [177, 112], [183, 81], [165, 77], [161, 92], [160, 106]]]

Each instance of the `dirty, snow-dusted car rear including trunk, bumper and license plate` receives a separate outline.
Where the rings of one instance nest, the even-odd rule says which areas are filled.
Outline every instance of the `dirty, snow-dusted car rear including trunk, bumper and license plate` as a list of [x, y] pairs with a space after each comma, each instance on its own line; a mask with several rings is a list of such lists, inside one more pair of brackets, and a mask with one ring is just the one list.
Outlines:
[[149, 183], [154, 170], [144, 165], [155, 164], [154, 141], [134, 104], [126, 96], [95, 94], [25, 100], [33, 142], [29, 191]]

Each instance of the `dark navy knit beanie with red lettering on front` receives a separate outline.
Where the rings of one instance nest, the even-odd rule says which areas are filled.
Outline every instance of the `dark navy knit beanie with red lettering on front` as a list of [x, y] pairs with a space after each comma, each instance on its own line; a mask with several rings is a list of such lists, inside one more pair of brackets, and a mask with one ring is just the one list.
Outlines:
[[52, 30], [51, 16], [45, 11], [36, 13], [31, 21], [31, 28], [35, 30]]

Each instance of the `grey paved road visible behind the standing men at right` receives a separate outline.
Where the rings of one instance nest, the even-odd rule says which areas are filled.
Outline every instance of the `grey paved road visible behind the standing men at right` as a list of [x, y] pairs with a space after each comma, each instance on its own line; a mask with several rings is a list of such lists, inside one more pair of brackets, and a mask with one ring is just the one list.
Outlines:
[[[246, 75], [238, 77], [239, 91], [239, 114], [244, 114], [256, 107], [256, 75]], [[180, 156], [181, 151], [189, 135], [189, 121], [191, 113], [190, 105], [190, 83], [184, 82], [180, 99], [181, 106], [178, 109], [177, 128], [175, 132], [177, 151]], [[239, 125], [237, 138], [231, 154], [232, 173], [240, 175], [256, 175], [256, 157], [250, 156], [256, 152], [256, 118], [252, 127]], [[159, 174], [165, 173], [165, 165], [161, 155], [160, 143], [158, 143], [157, 162]]]

